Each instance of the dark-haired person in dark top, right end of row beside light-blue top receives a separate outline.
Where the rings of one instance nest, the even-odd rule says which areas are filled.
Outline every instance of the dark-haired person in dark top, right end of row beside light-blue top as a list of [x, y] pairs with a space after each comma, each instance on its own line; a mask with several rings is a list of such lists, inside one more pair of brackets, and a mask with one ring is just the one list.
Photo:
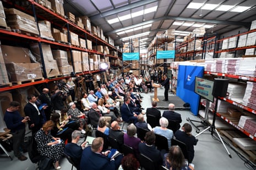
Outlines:
[[194, 145], [197, 145], [198, 139], [195, 139], [191, 134], [192, 127], [189, 123], [184, 123], [181, 129], [182, 131], [178, 130], [175, 132], [175, 137], [177, 140], [182, 141], [187, 145], [188, 163], [191, 163], [194, 158]]

